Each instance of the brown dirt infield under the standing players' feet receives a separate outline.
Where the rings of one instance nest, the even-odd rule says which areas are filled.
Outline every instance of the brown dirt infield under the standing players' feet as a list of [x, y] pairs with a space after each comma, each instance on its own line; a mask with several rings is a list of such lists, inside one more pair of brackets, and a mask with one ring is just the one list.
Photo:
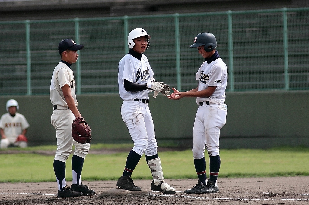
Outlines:
[[151, 191], [151, 180], [134, 180], [137, 186], [148, 191], [148, 195], [102, 198], [100, 193], [116, 188], [116, 181], [84, 181], [84, 184], [97, 191], [97, 195], [70, 199], [57, 198], [56, 182], [0, 183], [0, 204], [309, 204], [309, 177], [219, 178], [220, 192], [215, 194], [184, 194], [183, 191], [193, 187], [197, 180], [167, 179], [166, 181], [176, 188], [175, 195], [163, 195], [160, 192]]

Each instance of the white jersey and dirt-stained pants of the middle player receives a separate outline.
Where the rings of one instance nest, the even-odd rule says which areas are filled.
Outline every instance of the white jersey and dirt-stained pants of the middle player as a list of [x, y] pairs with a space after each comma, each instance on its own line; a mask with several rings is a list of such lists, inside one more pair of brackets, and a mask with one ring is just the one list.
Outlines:
[[139, 60], [127, 54], [119, 62], [119, 93], [124, 100], [121, 106], [121, 116], [134, 142], [132, 150], [139, 155], [145, 153], [152, 156], [158, 153], [155, 127], [148, 104], [133, 101], [133, 99], [149, 99], [148, 93], [151, 90], [128, 92], [125, 90], [124, 81], [146, 84], [155, 80], [153, 76], [154, 72], [145, 55], [142, 55], [141, 60]]

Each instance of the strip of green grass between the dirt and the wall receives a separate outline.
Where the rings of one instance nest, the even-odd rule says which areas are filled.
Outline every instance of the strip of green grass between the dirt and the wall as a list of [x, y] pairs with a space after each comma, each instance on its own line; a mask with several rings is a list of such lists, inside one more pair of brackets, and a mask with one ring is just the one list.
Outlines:
[[[124, 148], [132, 145], [92, 145], [91, 149]], [[10, 148], [12, 150], [55, 150], [55, 146]], [[88, 154], [84, 162], [83, 180], [115, 180], [124, 169], [128, 152], [117, 154]], [[53, 158], [40, 154], [1, 154], [0, 182], [55, 181]], [[191, 150], [159, 152], [165, 178], [197, 178]], [[309, 176], [309, 148], [281, 147], [267, 150], [220, 150], [219, 177]], [[209, 173], [206, 156], [206, 173]], [[151, 179], [145, 156], [132, 178]], [[66, 163], [66, 179], [72, 180], [71, 156]]]

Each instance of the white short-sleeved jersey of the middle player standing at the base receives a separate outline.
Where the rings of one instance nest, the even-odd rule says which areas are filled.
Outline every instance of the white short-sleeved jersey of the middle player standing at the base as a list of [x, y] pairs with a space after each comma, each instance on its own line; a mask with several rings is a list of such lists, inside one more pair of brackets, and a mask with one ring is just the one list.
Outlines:
[[139, 84], [146, 84], [155, 80], [153, 79], [154, 72], [149, 65], [147, 57], [142, 55], [141, 60], [138, 60], [132, 55], [127, 54], [120, 60], [118, 68], [118, 84], [121, 99], [149, 99], [148, 93], [151, 91], [150, 89], [138, 92], [128, 92], [125, 90], [124, 86], [125, 80]]

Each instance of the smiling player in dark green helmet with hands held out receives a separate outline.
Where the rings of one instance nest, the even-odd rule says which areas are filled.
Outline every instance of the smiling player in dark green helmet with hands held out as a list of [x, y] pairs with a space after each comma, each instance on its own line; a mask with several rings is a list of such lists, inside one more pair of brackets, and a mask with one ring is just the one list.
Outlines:
[[[219, 153], [220, 129], [225, 125], [227, 105], [224, 105], [227, 83], [226, 64], [216, 51], [217, 40], [211, 33], [200, 33], [194, 39], [198, 52], [205, 62], [196, 74], [197, 88], [186, 92], [174, 92], [169, 99], [179, 100], [183, 97], [196, 97], [198, 110], [193, 127], [193, 158], [198, 176], [197, 184], [184, 193], [216, 193], [219, 191], [217, 179], [221, 165]], [[206, 183], [205, 146], [209, 155], [210, 177]]]

